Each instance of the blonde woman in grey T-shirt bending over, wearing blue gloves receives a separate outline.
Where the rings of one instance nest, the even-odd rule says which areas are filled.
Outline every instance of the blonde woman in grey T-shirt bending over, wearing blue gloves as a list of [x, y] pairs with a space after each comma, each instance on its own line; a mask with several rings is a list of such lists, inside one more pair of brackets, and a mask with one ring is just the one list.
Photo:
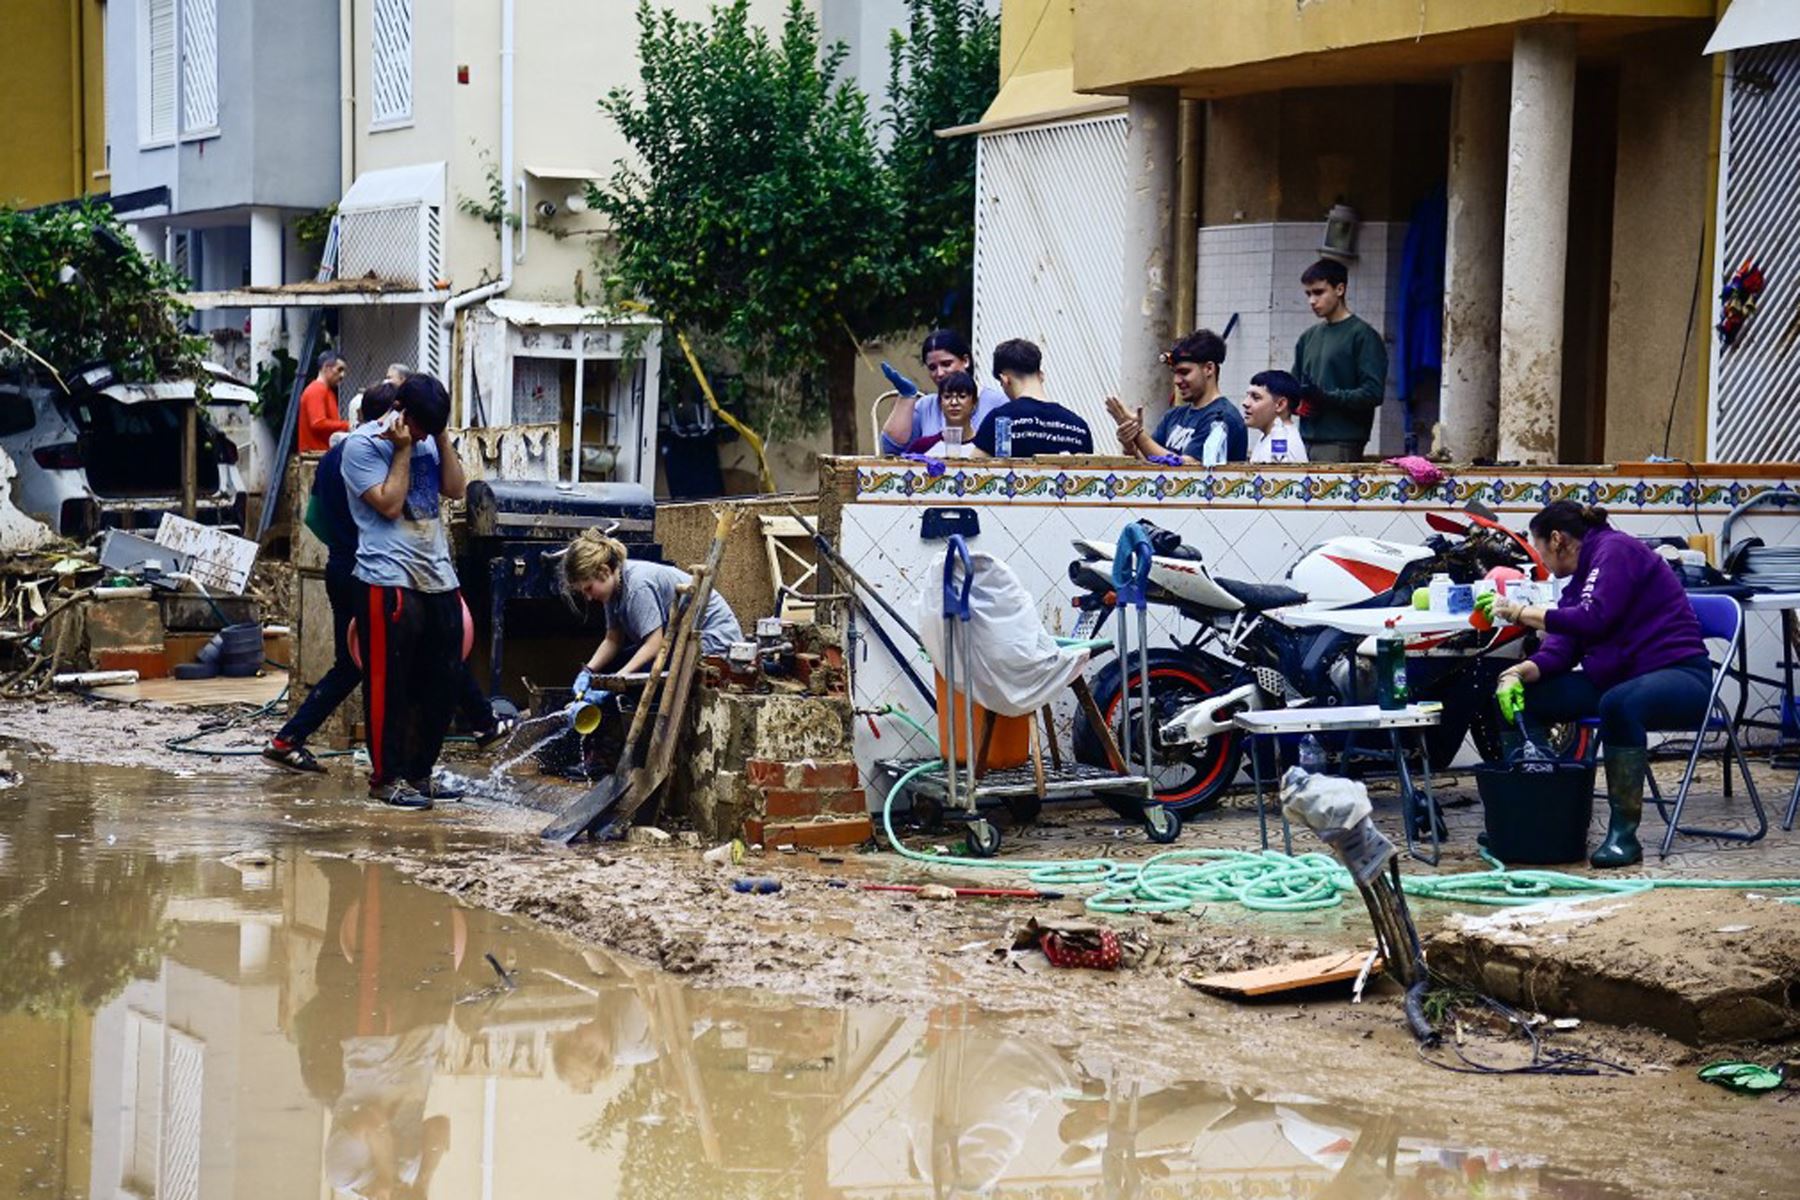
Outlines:
[[[632, 675], [655, 660], [675, 596], [693, 583], [693, 576], [668, 563], [632, 561], [623, 542], [587, 529], [563, 554], [563, 583], [572, 596], [599, 604], [607, 613], [607, 637], [574, 680], [576, 696], [585, 696], [594, 675], [607, 667]], [[700, 653], [724, 655], [742, 640], [743, 630], [731, 604], [713, 592], [700, 615]]]

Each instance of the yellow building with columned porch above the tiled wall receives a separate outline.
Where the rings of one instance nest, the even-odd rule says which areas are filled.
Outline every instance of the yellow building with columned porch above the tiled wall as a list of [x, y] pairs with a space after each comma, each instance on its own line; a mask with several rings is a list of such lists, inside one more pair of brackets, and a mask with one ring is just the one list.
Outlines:
[[[1336, 205], [1361, 228], [1352, 300], [1399, 362], [1399, 327], [1418, 327], [1399, 282], [1408, 232], [1442, 198], [1442, 371], [1390, 394], [1402, 403], [1368, 453], [1400, 452], [1393, 414], [1409, 408], [1404, 437], [1456, 459], [1703, 455], [1724, 88], [1705, 47], [1726, 7], [1004, 0], [1001, 90], [976, 131], [986, 164], [1030, 133], [1064, 176], [1085, 164], [1058, 139], [1103, 146], [1085, 210], [1062, 223], [1116, 239], [1121, 293], [1087, 318], [1120, 313], [1105, 381], [1121, 394], [1156, 403], [1154, 349], [1193, 326], [1235, 326], [1238, 387], [1285, 369], [1309, 320], [1298, 270]], [[1116, 196], [1100, 182], [1114, 171]], [[1031, 245], [1004, 230], [1024, 219], [1008, 193], [1030, 185], [1019, 171], [985, 193], [990, 246]], [[983, 273], [1004, 275], [977, 264], [977, 306]]]

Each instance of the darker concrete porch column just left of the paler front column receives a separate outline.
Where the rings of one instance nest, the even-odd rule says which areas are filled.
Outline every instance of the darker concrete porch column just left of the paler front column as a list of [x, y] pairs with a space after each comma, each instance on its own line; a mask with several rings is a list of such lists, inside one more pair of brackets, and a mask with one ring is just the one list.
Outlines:
[[1449, 232], [1444, 246], [1440, 450], [1456, 462], [1499, 450], [1499, 255], [1507, 212], [1505, 63], [1458, 67], [1451, 83]]

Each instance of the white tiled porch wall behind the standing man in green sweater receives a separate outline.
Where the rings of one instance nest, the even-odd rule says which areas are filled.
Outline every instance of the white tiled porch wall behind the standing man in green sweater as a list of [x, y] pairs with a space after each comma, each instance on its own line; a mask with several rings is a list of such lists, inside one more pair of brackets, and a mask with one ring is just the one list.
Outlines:
[[[1323, 221], [1262, 225], [1206, 225], [1199, 237], [1195, 326], [1224, 333], [1231, 315], [1238, 324], [1226, 344], [1219, 387], [1244, 396], [1258, 371], [1294, 365], [1294, 342], [1316, 318], [1300, 288], [1300, 272], [1321, 257]], [[1402, 410], [1395, 399], [1393, 349], [1399, 329], [1400, 248], [1404, 223], [1372, 221], [1357, 230], [1357, 257], [1350, 268], [1350, 309], [1375, 326], [1388, 342], [1388, 401], [1381, 408], [1370, 452], [1400, 453]], [[1420, 430], [1424, 441], [1426, 430]]]

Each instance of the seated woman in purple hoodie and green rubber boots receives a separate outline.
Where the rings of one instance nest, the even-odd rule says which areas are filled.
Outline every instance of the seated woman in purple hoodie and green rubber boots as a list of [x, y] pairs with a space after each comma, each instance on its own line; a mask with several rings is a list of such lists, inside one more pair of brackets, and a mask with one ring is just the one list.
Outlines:
[[1544, 631], [1535, 655], [1501, 673], [1494, 698], [1507, 725], [1521, 712], [1537, 725], [1598, 714], [1613, 819], [1588, 862], [1629, 867], [1643, 860], [1649, 732], [1699, 725], [1712, 658], [1676, 572], [1613, 529], [1606, 509], [1557, 500], [1532, 518], [1532, 543], [1568, 588], [1555, 608], [1481, 597], [1494, 617]]

